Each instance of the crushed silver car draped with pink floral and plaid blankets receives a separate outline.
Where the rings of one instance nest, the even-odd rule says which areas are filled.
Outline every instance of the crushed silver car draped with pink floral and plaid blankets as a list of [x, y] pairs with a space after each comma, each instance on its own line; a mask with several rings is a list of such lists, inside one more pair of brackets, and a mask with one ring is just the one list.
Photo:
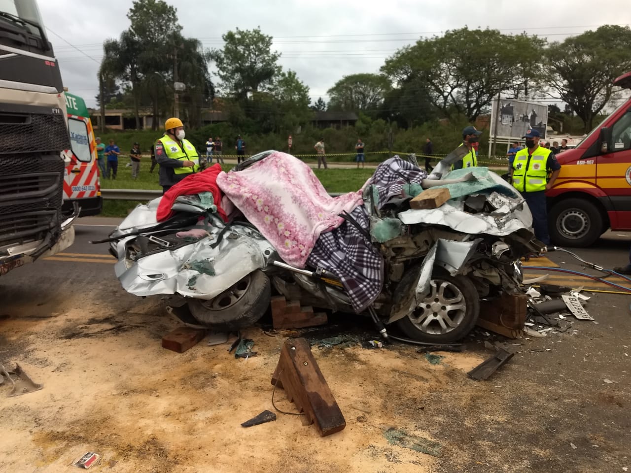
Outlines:
[[[254, 324], [274, 293], [365, 313], [382, 336], [396, 325], [415, 341], [457, 341], [482, 298], [521, 292], [519, 259], [543, 248], [519, 192], [488, 168], [451, 171], [459, 153], [430, 176], [394, 156], [338, 197], [293, 156], [252, 156], [213, 171], [214, 197], [170, 196], [163, 221], [167, 196], [136, 207], [109, 238], [116, 276], [134, 295], [175, 295], [182, 320], [216, 330]], [[449, 198], [412, 208], [426, 189]]]

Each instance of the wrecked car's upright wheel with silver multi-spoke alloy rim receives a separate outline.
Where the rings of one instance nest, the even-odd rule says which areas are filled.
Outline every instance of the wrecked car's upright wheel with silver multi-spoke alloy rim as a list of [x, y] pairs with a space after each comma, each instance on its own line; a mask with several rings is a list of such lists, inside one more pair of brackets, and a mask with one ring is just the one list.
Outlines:
[[[447, 308], [449, 306], [453, 307]], [[444, 269], [436, 268], [430, 281], [430, 293], [396, 324], [413, 340], [443, 344], [465, 337], [476, 324], [478, 315], [480, 296], [471, 279], [451, 276]]]

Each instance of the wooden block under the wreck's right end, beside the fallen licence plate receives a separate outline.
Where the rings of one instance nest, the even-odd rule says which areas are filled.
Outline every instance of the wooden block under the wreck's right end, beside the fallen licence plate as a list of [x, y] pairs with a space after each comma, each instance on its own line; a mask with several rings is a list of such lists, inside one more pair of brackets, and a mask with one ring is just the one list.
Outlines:
[[482, 300], [478, 325], [505, 337], [517, 338], [526, 322], [527, 303], [525, 294], [503, 293], [493, 300]]

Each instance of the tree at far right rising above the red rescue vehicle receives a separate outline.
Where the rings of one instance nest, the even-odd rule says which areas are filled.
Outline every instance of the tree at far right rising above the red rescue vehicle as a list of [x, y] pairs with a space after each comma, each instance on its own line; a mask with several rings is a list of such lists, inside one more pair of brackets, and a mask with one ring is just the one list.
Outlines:
[[550, 86], [581, 118], [584, 132], [612, 98], [613, 79], [631, 69], [630, 44], [631, 28], [604, 25], [550, 45]]

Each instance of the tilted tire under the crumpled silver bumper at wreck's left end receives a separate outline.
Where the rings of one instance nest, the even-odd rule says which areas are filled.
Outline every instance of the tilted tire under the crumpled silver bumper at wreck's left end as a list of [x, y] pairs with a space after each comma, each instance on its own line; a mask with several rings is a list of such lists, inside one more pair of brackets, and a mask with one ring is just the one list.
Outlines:
[[228, 332], [255, 324], [268, 310], [270, 296], [269, 278], [257, 269], [215, 298], [195, 299], [188, 304], [201, 325]]

